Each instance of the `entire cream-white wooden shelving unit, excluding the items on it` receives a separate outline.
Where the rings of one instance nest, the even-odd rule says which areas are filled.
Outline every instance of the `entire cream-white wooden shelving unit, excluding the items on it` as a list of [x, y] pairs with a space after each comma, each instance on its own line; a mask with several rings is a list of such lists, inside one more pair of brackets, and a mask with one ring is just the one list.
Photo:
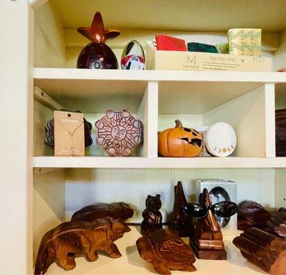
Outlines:
[[[286, 107], [286, 74], [275, 72], [286, 67], [286, 3], [121, 2], [0, 0], [0, 110], [1, 118], [9, 118], [1, 128], [1, 274], [32, 274], [43, 234], [94, 202], [130, 203], [135, 215], [128, 222], [140, 223], [146, 195], [159, 193], [167, 221], [178, 180], [189, 200], [195, 179], [218, 178], [237, 182], [238, 201], [286, 205], [286, 159], [275, 157], [275, 109]], [[156, 33], [214, 44], [227, 41], [229, 28], [263, 28], [263, 55], [273, 58], [274, 72], [74, 69], [88, 43], [76, 28], [88, 26], [96, 10], [107, 28], [120, 29], [108, 42], [118, 58], [131, 39], [144, 45]], [[54, 157], [43, 142], [44, 126], [58, 109], [83, 111], [93, 125], [107, 109], [129, 109], [144, 124], [144, 145], [132, 157], [108, 157], [96, 146], [93, 129], [86, 157]], [[230, 123], [236, 151], [225, 158], [158, 157], [157, 132], [174, 126], [176, 118], [195, 128]], [[74, 270], [53, 264], [47, 274], [153, 274], [137, 253], [139, 236], [133, 226], [117, 241], [120, 259], [79, 258]], [[262, 274], [232, 245], [233, 237], [224, 237], [227, 261], [197, 260], [194, 274]]]

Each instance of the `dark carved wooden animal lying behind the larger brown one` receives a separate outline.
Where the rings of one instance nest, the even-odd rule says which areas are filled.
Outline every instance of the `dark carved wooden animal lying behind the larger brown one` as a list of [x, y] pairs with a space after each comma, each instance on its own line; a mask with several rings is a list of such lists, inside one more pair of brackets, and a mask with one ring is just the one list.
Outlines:
[[133, 209], [124, 202], [95, 203], [75, 212], [72, 215], [72, 221], [93, 221], [104, 217], [125, 221], [131, 218], [133, 214]]

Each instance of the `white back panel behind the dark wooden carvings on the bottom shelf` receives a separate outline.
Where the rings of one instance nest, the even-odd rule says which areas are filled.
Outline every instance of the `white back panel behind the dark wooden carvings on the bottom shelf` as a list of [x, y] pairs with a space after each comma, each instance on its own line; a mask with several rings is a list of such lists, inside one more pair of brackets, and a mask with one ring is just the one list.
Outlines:
[[237, 182], [238, 202], [252, 199], [274, 208], [274, 169], [67, 169], [66, 219], [95, 202], [124, 201], [135, 209], [129, 222], [140, 223], [147, 195], [160, 194], [166, 221], [173, 209], [173, 186], [182, 181], [188, 201], [195, 201], [195, 179], [230, 179]]

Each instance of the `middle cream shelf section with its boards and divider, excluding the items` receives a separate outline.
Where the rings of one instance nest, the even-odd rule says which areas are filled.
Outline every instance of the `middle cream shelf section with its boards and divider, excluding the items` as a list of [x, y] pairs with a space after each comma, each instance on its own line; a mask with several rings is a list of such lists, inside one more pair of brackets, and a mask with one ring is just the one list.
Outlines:
[[[275, 157], [276, 94], [283, 98], [285, 74], [257, 72], [93, 71], [34, 69], [34, 167], [108, 168], [236, 168], [285, 167]], [[281, 100], [281, 105], [286, 100]], [[85, 160], [52, 159], [43, 144], [45, 124], [53, 111], [80, 110], [93, 129], [94, 144]], [[105, 158], [96, 145], [96, 120], [108, 109], [129, 109], [144, 125], [144, 144], [131, 159]], [[236, 132], [237, 146], [225, 159], [164, 159], [157, 157], [157, 133], [175, 120], [199, 129], [226, 122]], [[201, 130], [198, 130], [201, 131]], [[90, 158], [89, 158], [90, 157]], [[142, 158], [143, 157], [143, 158]], [[91, 159], [91, 160], [89, 160]], [[123, 160], [124, 159], [124, 160]], [[96, 162], [96, 164], [94, 164]]]

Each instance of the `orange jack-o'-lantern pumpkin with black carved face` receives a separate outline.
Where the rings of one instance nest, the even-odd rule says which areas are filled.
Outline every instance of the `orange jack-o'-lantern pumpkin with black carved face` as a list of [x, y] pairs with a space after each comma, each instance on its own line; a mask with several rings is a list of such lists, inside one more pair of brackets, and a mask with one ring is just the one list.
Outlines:
[[175, 128], [159, 133], [158, 149], [162, 157], [195, 157], [201, 152], [202, 137], [194, 129], [176, 120]]

